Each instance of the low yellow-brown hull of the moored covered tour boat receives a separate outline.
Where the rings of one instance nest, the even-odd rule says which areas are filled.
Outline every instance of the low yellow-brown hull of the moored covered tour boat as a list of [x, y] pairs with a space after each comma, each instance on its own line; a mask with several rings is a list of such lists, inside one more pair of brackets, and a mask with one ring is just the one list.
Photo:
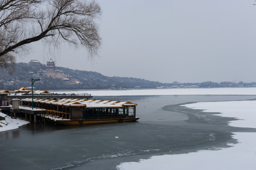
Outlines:
[[121, 122], [135, 122], [139, 117], [119, 118], [119, 119], [85, 119], [85, 120], [55, 120], [57, 124], [61, 125], [90, 125], [101, 123], [121, 123]]

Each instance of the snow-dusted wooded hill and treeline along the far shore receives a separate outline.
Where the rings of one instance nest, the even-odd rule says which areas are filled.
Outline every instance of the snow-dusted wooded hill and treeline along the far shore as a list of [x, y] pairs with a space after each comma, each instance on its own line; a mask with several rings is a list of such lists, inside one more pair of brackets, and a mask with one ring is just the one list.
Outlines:
[[161, 83], [132, 77], [108, 77], [98, 72], [72, 70], [65, 67], [56, 67], [57, 70], [65, 72], [79, 80], [80, 84], [71, 84], [61, 79], [41, 76], [37, 74], [39, 70], [45, 70], [45, 65], [31, 65], [28, 63], [16, 63], [13, 72], [8, 72], [0, 68], [0, 89], [16, 90], [20, 87], [31, 86], [31, 73], [33, 78], [40, 78], [35, 82], [34, 87], [41, 90], [76, 90], [76, 89], [124, 89], [124, 88], [209, 88], [209, 87], [249, 87], [256, 85], [251, 83], [234, 82], [197, 82], [197, 83]]

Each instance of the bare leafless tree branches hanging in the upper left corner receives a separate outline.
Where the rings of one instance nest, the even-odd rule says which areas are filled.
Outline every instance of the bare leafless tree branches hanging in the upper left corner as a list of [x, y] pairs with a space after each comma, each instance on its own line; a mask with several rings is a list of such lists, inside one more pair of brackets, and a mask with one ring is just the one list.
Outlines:
[[90, 57], [97, 55], [101, 38], [95, 20], [100, 15], [94, 0], [0, 0], [0, 67], [41, 39], [56, 48], [62, 42], [82, 45]]

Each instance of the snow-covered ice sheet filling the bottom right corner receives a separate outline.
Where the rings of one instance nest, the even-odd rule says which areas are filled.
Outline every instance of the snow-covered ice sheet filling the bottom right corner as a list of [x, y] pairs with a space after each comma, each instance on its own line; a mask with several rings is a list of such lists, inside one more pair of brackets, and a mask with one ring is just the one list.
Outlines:
[[256, 133], [235, 133], [239, 143], [222, 150], [200, 150], [179, 155], [152, 156], [121, 163], [119, 170], [256, 170]]

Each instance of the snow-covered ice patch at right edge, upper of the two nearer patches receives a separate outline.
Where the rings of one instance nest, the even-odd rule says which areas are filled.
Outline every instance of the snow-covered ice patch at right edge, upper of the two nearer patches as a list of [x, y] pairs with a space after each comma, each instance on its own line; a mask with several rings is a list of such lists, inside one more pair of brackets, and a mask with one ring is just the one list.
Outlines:
[[192, 109], [201, 109], [203, 112], [220, 112], [221, 114], [217, 114], [218, 116], [236, 117], [241, 119], [230, 121], [230, 126], [256, 128], [256, 100], [197, 102], [183, 106]]

